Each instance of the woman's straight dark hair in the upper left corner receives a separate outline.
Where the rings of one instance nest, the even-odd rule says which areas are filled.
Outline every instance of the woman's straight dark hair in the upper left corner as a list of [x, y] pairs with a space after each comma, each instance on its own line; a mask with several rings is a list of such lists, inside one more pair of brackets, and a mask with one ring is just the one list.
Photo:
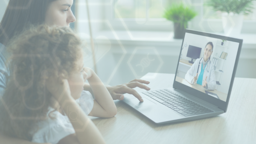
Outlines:
[[0, 43], [7, 45], [13, 36], [30, 25], [44, 23], [47, 9], [55, 0], [10, 0], [0, 23]]

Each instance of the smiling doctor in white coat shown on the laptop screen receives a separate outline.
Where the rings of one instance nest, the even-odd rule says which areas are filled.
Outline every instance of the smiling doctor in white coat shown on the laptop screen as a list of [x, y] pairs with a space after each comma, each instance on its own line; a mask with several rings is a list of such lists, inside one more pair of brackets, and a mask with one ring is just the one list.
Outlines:
[[186, 81], [190, 84], [200, 84], [205, 89], [214, 90], [216, 86], [213, 63], [210, 58], [213, 51], [213, 44], [209, 42], [204, 48], [204, 57], [195, 60], [185, 75]]

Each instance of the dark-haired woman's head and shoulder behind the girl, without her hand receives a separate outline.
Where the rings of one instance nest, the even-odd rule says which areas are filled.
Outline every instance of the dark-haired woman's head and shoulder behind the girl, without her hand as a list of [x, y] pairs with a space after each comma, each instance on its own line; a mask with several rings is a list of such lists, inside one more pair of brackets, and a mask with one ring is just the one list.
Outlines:
[[70, 10], [73, 0], [10, 0], [0, 23], [0, 93], [6, 87], [9, 71], [5, 46], [15, 36], [31, 25], [69, 26], [76, 21]]

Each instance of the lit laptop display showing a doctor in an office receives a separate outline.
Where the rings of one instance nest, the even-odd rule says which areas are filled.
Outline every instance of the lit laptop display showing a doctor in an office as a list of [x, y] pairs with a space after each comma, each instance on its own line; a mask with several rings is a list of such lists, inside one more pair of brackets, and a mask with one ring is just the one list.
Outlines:
[[175, 81], [227, 101], [239, 43], [186, 33]]

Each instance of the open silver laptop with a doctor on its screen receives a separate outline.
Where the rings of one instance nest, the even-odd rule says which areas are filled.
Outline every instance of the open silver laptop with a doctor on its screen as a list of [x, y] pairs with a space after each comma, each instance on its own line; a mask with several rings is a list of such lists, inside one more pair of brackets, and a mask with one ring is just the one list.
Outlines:
[[[242, 39], [186, 29], [173, 87], [139, 92], [144, 102], [125, 94], [123, 102], [156, 124], [191, 121], [227, 112], [242, 43]], [[210, 50], [207, 65], [203, 66], [202, 60], [207, 59]]]

